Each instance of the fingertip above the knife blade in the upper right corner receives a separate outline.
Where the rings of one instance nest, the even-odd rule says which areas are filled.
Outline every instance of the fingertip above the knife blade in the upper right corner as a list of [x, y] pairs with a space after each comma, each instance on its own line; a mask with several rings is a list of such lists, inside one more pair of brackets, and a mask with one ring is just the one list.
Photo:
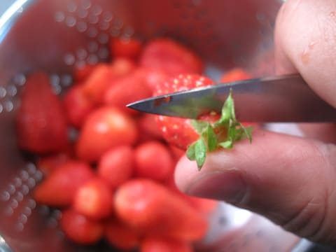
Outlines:
[[336, 107], [336, 1], [288, 0], [276, 20], [276, 71], [299, 72]]

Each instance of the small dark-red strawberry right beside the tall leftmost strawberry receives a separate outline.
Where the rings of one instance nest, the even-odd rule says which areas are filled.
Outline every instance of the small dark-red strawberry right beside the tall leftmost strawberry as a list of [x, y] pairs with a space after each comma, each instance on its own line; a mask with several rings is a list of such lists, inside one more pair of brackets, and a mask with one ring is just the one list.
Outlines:
[[80, 127], [89, 113], [94, 109], [94, 104], [83, 92], [83, 85], [74, 85], [64, 95], [66, 116], [74, 127]]

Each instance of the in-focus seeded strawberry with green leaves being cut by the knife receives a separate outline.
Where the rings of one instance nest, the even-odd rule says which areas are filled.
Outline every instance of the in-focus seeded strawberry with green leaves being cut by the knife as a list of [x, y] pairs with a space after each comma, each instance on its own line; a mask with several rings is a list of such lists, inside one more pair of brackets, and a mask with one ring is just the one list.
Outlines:
[[[158, 85], [154, 95], [190, 90], [195, 87], [212, 85], [214, 82], [200, 75], [179, 75]], [[207, 152], [218, 148], [232, 148], [235, 141], [245, 137], [251, 141], [251, 127], [244, 127], [236, 120], [232, 93], [223, 105], [221, 115], [216, 111], [200, 116], [199, 120], [157, 116], [162, 136], [169, 144], [187, 149], [187, 157], [196, 160], [202, 168]]]

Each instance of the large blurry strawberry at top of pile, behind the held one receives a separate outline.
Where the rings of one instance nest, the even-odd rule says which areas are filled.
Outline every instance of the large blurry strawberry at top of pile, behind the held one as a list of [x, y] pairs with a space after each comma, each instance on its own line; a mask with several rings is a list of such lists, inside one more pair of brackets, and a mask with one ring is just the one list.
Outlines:
[[140, 65], [165, 71], [170, 76], [180, 73], [202, 73], [202, 59], [192, 50], [169, 38], [156, 38], [144, 48]]

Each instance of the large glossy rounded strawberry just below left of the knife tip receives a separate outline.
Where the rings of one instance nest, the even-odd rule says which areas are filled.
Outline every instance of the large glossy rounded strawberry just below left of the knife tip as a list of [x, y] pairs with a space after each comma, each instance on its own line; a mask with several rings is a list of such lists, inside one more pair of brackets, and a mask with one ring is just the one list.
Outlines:
[[97, 162], [111, 148], [135, 144], [138, 134], [133, 118], [115, 107], [103, 106], [85, 120], [78, 137], [76, 154], [88, 162]]

